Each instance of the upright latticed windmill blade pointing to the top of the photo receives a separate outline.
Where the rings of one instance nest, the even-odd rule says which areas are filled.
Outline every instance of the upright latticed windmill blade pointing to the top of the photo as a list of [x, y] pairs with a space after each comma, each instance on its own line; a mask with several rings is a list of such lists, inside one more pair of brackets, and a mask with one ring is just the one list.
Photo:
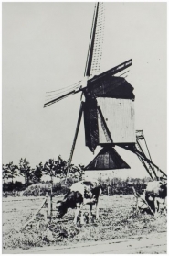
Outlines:
[[100, 61], [102, 56], [102, 43], [104, 34], [104, 4], [95, 5], [93, 22], [90, 33], [90, 45], [87, 55], [84, 76], [89, 77], [100, 72]]

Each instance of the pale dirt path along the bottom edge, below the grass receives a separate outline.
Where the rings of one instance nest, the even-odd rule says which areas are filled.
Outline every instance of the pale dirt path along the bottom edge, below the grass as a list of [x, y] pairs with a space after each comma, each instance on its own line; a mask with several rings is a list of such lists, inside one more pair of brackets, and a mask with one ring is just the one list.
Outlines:
[[[33, 250], [13, 250], [13, 254], [166, 254], [167, 234], [158, 233], [131, 239], [112, 239], [74, 246], [50, 246]], [[11, 254], [11, 251], [3, 251]]]

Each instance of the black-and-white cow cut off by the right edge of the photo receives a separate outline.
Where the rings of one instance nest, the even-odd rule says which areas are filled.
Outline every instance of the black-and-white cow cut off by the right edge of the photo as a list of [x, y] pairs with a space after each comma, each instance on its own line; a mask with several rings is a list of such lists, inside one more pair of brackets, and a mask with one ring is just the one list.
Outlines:
[[153, 181], [147, 184], [145, 200], [151, 207], [155, 217], [159, 214], [160, 205], [164, 206], [166, 212], [167, 184], [162, 181]]

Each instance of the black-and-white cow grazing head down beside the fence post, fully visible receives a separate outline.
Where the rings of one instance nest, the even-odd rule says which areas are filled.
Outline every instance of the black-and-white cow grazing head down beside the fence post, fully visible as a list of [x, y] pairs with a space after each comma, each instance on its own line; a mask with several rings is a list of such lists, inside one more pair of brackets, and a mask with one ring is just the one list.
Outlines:
[[100, 185], [97, 182], [81, 181], [69, 188], [69, 192], [65, 195], [62, 201], [57, 202], [58, 218], [63, 217], [69, 208], [76, 209], [74, 223], [77, 223], [79, 211], [84, 205], [90, 205], [90, 212], [92, 205], [96, 204], [96, 218], [99, 218], [99, 196]]

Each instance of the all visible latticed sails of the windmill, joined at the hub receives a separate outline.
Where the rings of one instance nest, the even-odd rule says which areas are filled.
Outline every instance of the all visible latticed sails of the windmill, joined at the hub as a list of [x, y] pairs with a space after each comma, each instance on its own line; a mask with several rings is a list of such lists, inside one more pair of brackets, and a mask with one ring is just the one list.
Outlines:
[[[80, 80], [78, 83], [74, 83], [71, 86], [68, 86], [66, 88], [48, 92], [44, 107], [50, 106], [68, 97], [69, 95], [77, 94], [80, 91], [84, 92], [85, 94], [86, 90], [88, 90], [90, 86], [93, 87], [95, 83], [100, 83], [102, 80], [105, 80], [105, 79], [108, 81], [110, 80], [111, 76], [115, 75], [116, 73], [123, 72], [123, 70], [128, 69], [132, 65], [132, 60], [125, 61], [125, 62], [122, 62], [120, 65], [114, 68], [111, 68], [111, 70], [109, 71], [102, 72], [101, 74], [97, 74], [98, 72], [100, 72], [100, 61], [102, 57], [104, 17], [105, 17], [104, 4], [99, 2], [95, 5], [92, 28], [90, 33], [90, 44], [89, 44], [87, 61], [86, 61], [86, 68], [84, 72], [86, 80], [84, 81]], [[92, 77], [93, 75], [94, 77]], [[111, 88], [111, 86], [109, 87]]]

